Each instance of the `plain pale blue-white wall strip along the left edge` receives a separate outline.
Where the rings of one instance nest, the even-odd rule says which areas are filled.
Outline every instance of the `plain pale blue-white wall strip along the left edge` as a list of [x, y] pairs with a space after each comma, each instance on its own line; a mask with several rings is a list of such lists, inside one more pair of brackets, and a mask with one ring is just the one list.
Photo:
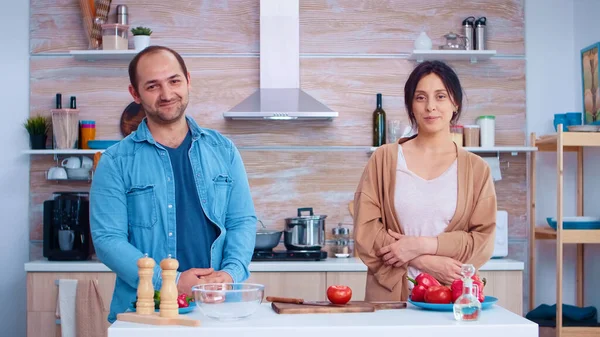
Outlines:
[[29, 261], [29, 146], [21, 126], [29, 115], [29, 1], [4, 1], [0, 11], [2, 124], [0, 132], [0, 327], [2, 336], [26, 334]]

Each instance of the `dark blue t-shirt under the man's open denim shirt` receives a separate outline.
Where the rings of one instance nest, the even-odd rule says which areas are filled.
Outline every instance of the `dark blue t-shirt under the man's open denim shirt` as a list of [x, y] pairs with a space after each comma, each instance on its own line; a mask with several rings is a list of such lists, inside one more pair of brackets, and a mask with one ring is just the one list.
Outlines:
[[196, 191], [194, 172], [188, 156], [192, 134], [176, 149], [164, 146], [169, 152], [175, 179], [175, 214], [177, 220], [178, 271], [210, 267], [210, 247], [217, 238], [218, 227], [204, 214]]

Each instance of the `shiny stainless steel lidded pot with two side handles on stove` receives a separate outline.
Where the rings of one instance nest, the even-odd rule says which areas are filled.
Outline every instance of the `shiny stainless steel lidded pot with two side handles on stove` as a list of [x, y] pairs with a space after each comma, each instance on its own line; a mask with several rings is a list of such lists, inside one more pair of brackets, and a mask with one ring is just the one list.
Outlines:
[[[310, 215], [302, 215], [309, 211]], [[325, 218], [314, 215], [312, 207], [298, 208], [298, 216], [285, 219], [283, 243], [287, 250], [318, 250], [325, 245]]]

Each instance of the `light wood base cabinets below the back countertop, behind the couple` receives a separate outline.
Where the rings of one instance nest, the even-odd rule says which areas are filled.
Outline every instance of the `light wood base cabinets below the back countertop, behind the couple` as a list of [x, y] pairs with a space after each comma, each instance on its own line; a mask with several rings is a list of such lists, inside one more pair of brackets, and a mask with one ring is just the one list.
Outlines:
[[[339, 261], [332, 261], [339, 262]], [[341, 262], [340, 262], [341, 263]], [[501, 262], [498, 262], [501, 263]], [[67, 268], [64, 264], [57, 263], [56, 268]], [[52, 269], [54, 264], [42, 262], [34, 264], [32, 269]], [[71, 264], [71, 269], [76, 269], [76, 264]], [[344, 284], [352, 288], [352, 300], [360, 301], [365, 296], [367, 272], [352, 270], [358, 263], [342, 265], [335, 271], [326, 271], [317, 268], [302, 270], [300, 265], [288, 263], [285, 266], [262, 267], [256, 264], [251, 269], [291, 268], [296, 270], [267, 270], [252, 271], [246, 281], [265, 285], [265, 296], [285, 296], [303, 298], [305, 300], [326, 300], [327, 287], [334, 284]], [[61, 278], [77, 279], [81, 281], [97, 280], [103, 300], [103, 319], [108, 316], [110, 301], [115, 283], [115, 274], [100, 263], [87, 263], [93, 271], [28, 271], [27, 273], [27, 336], [28, 337], [60, 337], [60, 321], [55, 316], [58, 286], [56, 281]], [[285, 267], [285, 268], [284, 268]], [[343, 267], [343, 268], [342, 268]], [[501, 266], [498, 266], [501, 267]], [[81, 267], [81, 269], [84, 269]], [[345, 270], [344, 270], [345, 269]], [[509, 311], [522, 315], [523, 311], [523, 271], [522, 270], [485, 270], [481, 276], [487, 279], [486, 295], [498, 298], [498, 304]], [[106, 328], [109, 326], [106, 321]]]

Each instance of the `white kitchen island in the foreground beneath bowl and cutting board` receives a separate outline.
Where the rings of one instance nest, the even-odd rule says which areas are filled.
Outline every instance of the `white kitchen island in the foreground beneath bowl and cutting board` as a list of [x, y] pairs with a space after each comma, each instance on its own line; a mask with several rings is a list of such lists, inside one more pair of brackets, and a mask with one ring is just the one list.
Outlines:
[[371, 313], [278, 315], [263, 303], [254, 315], [239, 321], [216, 321], [199, 308], [187, 314], [199, 327], [155, 326], [116, 321], [108, 337], [537, 337], [538, 325], [500, 306], [484, 310], [479, 321], [458, 322], [452, 312], [406, 309]]

